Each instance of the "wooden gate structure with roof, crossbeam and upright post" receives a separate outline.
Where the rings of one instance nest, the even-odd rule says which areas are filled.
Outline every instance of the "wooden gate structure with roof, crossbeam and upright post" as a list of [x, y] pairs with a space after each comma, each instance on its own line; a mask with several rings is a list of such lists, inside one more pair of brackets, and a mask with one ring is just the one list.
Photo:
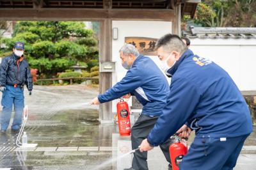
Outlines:
[[[112, 60], [112, 20], [172, 22], [180, 35], [182, 15], [194, 16], [200, 0], [1, 0], [0, 20], [99, 21], [99, 61]], [[100, 93], [112, 86], [112, 73], [100, 73]], [[111, 102], [100, 105], [99, 120], [110, 123]]]

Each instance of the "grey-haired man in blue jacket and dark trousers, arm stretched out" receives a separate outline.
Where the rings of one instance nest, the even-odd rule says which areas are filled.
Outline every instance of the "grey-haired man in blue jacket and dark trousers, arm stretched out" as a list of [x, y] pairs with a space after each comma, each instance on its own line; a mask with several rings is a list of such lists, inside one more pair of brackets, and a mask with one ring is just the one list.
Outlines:
[[[131, 129], [132, 150], [134, 150], [138, 148], [143, 139], [146, 139], [157, 118], [162, 114], [170, 86], [163, 72], [154, 61], [139, 54], [133, 45], [124, 45], [120, 49], [120, 58], [122, 59], [122, 66], [128, 70], [125, 77], [120, 82], [117, 82], [113, 88], [94, 98], [92, 104], [109, 102], [129, 93], [136, 96], [143, 105], [143, 109]], [[170, 139], [166, 139], [160, 147], [166, 160], [170, 163], [169, 145]], [[140, 151], [136, 151], [134, 153], [132, 167], [129, 170], [132, 169], [148, 169], [146, 152], [140, 153]]]

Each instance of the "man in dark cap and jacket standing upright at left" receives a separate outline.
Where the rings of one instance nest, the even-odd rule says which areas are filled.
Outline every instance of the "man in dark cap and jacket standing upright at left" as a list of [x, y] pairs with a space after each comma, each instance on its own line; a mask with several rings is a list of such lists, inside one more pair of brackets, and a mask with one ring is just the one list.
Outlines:
[[24, 108], [24, 84], [28, 88], [29, 95], [33, 89], [28, 61], [24, 59], [23, 53], [24, 43], [16, 42], [13, 47], [13, 54], [4, 58], [0, 66], [0, 91], [3, 93], [3, 111], [0, 116], [2, 133], [5, 133], [9, 126], [13, 106], [15, 115], [12, 131], [19, 131]]

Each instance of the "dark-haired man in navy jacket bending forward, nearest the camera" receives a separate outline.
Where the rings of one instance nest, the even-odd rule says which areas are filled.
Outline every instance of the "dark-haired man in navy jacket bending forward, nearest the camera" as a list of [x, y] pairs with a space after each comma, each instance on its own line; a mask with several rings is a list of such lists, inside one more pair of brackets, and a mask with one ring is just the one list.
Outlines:
[[196, 137], [180, 170], [233, 169], [252, 132], [250, 112], [236, 84], [220, 66], [193, 55], [177, 35], [160, 38], [157, 53], [170, 67], [170, 96], [140, 151], [151, 150], [177, 130], [187, 135], [190, 127]]

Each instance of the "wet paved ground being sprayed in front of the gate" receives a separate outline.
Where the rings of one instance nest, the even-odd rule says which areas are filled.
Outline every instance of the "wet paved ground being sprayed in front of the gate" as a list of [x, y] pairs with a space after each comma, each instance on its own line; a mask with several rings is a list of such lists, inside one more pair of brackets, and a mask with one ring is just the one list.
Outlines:
[[[129, 137], [119, 137], [116, 125], [100, 125], [98, 107], [88, 105], [98, 92], [83, 86], [36, 86], [26, 94], [26, 125], [32, 149], [15, 145], [17, 134], [0, 134], [0, 169], [124, 169], [131, 166]], [[193, 137], [189, 139], [189, 142]], [[256, 169], [256, 133], [247, 139], [236, 170]], [[122, 158], [120, 158], [122, 157]], [[116, 158], [120, 158], [116, 160]], [[114, 160], [111, 162], [111, 160]], [[167, 169], [159, 148], [148, 153], [150, 170]]]

